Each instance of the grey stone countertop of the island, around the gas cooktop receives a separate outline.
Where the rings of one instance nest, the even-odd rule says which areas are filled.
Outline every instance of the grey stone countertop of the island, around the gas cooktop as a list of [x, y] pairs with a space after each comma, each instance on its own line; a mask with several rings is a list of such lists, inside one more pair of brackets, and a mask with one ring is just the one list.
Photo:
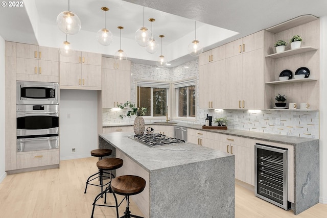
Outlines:
[[133, 132], [114, 132], [99, 135], [148, 172], [231, 156], [225, 152], [198, 146], [190, 142], [173, 146], [149, 148], [145, 144], [130, 138], [134, 136]]

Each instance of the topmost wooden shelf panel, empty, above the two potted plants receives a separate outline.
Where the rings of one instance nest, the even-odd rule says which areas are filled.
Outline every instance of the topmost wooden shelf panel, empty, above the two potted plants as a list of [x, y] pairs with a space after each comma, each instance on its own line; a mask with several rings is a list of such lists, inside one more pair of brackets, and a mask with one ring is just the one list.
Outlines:
[[282, 32], [284, 30], [288, 30], [291, 29], [293, 27], [297, 27], [299, 25], [311, 22], [318, 19], [317, 17], [311, 15], [311, 14], [307, 14], [307, 15], [302, 15], [299, 17], [295, 17], [291, 20], [279, 23], [278, 25], [275, 25], [273, 27], [270, 27], [268, 29], [266, 29], [266, 31], [271, 32], [271, 33], [279, 33]]

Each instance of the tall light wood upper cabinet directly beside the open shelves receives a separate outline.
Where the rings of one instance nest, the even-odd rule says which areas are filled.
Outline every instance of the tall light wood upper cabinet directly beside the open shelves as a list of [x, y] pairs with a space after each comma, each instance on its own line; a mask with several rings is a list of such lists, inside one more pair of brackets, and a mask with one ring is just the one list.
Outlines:
[[227, 43], [225, 51], [225, 109], [263, 109], [263, 31]]

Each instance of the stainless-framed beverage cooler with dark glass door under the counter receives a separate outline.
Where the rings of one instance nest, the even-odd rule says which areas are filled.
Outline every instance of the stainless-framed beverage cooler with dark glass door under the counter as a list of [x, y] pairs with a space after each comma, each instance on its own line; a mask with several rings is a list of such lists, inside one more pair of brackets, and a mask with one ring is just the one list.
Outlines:
[[285, 210], [288, 198], [287, 149], [255, 144], [255, 196]]

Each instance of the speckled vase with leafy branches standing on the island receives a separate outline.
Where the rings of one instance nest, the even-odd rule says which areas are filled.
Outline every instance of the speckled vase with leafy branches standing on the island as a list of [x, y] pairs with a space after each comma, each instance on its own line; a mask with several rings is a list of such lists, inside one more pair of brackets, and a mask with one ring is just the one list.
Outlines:
[[134, 120], [134, 133], [135, 135], [143, 135], [145, 131], [145, 123], [142, 115], [148, 111], [147, 108], [137, 108], [134, 104], [127, 101], [125, 104], [119, 104], [118, 107], [120, 109], [129, 108], [126, 115], [120, 115], [121, 118], [123, 117], [131, 117], [132, 115], [136, 115]]

